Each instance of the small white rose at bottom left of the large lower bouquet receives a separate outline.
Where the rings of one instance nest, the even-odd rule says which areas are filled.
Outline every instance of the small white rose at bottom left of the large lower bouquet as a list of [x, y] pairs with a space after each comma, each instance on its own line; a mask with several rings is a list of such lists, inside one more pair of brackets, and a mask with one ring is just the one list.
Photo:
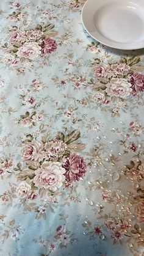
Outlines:
[[27, 196], [31, 195], [32, 189], [29, 184], [27, 184], [25, 181], [21, 182], [20, 185], [18, 185], [18, 188], [16, 188], [16, 192], [19, 197], [22, 199], [26, 198]]

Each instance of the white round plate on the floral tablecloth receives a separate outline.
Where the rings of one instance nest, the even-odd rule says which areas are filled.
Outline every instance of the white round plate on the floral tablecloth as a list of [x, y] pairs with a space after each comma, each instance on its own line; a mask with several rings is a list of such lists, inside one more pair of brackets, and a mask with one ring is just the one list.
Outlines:
[[144, 47], [144, 0], [87, 0], [82, 23], [88, 34], [104, 45]]

